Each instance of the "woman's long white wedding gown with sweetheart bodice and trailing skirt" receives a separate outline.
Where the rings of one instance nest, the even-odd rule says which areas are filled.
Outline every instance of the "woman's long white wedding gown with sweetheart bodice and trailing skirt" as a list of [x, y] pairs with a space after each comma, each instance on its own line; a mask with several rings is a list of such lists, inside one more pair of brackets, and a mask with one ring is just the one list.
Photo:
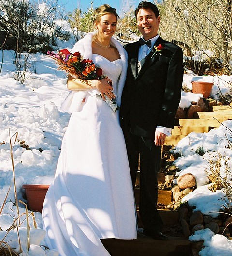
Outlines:
[[[116, 92], [121, 60], [110, 62], [93, 54], [93, 62], [113, 80]], [[55, 179], [44, 200], [46, 242], [60, 256], [110, 256], [100, 239], [136, 238], [134, 195], [118, 111], [95, 93], [88, 91], [71, 115]]]

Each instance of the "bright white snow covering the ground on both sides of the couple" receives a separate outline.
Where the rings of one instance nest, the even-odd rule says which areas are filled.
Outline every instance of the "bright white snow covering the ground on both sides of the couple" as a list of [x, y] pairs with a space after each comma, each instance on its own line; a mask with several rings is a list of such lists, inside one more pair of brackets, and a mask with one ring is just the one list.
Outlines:
[[[69, 41], [58, 41], [59, 48], [71, 49], [73, 37]], [[20, 84], [14, 79], [14, 52], [1, 51], [3, 65], [0, 74], [0, 202], [3, 202], [10, 188], [6, 204], [0, 214], [0, 240], [8, 242], [16, 251], [20, 252], [17, 229], [10, 229], [17, 208], [14, 205], [14, 185], [12, 161], [10, 156], [10, 138], [12, 140], [13, 160], [18, 200], [23, 198], [23, 184], [50, 184], [54, 178], [56, 164], [60, 153], [63, 135], [69, 122], [70, 114], [63, 112], [60, 107], [68, 95], [66, 75], [57, 70], [54, 61], [43, 54], [32, 54], [30, 57], [31, 72], [28, 79]], [[184, 74], [183, 84], [191, 89], [191, 80], [196, 75], [188, 71]], [[212, 96], [217, 99], [218, 90], [224, 94], [229, 92], [232, 83], [230, 76], [215, 76], [208, 79], [214, 82]], [[182, 92], [180, 107], [188, 108], [191, 102], [197, 102], [202, 95]], [[197, 180], [197, 189], [183, 198], [195, 210], [202, 211], [213, 217], [222, 206], [224, 192], [211, 192], [208, 189], [207, 168], [208, 160], [213, 159], [218, 152], [228, 159], [232, 157], [232, 150], [228, 149], [225, 136], [231, 138], [232, 121], [225, 121], [219, 128], [208, 133], [190, 133], [176, 146], [175, 153], [181, 154], [175, 164], [180, 169], [178, 176], [192, 173]], [[203, 147], [205, 154], [195, 153]], [[27, 150], [29, 149], [29, 150]], [[231, 164], [230, 164], [231, 166]], [[221, 167], [225, 172], [225, 167]], [[224, 168], [224, 169], [223, 169]], [[225, 174], [226, 175], [226, 174]], [[231, 177], [227, 176], [230, 181]], [[34, 213], [37, 228], [34, 227], [33, 215], [29, 213], [30, 249], [27, 248], [27, 221], [25, 206], [19, 204], [20, 226], [19, 234], [23, 252], [20, 256], [56, 256], [57, 252], [45, 250], [44, 231], [42, 230], [41, 214]], [[6, 238], [4, 238], [6, 236]], [[209, 229], [196, 231], [190, 238], [192, 241], [204, 240], [205, 248], [201, 256], [218, 256], [232, 254], [232, 241], [222, 235], [215, 235]]]

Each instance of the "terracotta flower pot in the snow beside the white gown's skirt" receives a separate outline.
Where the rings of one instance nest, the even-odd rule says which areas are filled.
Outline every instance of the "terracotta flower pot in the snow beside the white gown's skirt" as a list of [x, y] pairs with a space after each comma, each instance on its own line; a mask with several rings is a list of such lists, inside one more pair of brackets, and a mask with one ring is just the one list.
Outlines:
[[50, 185], [24, 184], [28, 208], [31, 211], [42, 212], [43, 201]]

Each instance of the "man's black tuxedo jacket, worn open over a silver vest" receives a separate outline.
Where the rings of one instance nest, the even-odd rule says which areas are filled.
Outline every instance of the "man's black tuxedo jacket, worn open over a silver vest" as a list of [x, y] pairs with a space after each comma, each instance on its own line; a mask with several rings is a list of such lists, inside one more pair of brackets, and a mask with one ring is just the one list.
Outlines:
[[164, 46], [162, 51], [154, 54], [153, 47], [139, 72], [139, 42], [124, 46], [128, 53], [128, 71], [120, 120], [129, 118], [133, 134], [151, 139], [154, 139], [158, 125], [174, 127], [183, 80], [182, 49], [160, 36], [155, 46], [159, 44]]

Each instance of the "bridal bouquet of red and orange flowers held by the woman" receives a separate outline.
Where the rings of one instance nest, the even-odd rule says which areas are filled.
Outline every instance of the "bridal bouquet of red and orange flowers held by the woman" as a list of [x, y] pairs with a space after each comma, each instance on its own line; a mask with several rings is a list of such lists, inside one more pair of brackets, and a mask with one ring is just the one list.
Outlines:
[[[71, 53], [67, 49], [60, 50], [58, 53], [48, 51], [47, 54], [56, 61], [59, 69], [65, 72], [77, 76], [82, 80], [90, 79], [103, 79], [108, 78], [103, 75], [102, 68], [97, 67], [92, 60], [84, 59], [80, 52]], [[112, 84], [110, 84], [112, 85]], [[102, 95], [99, 94], [102, 98]], [[116, 99], [109, 99], [105, 96], [106, 103], [112, 108], [113, 111], [119, 109], [116, 104]]]

